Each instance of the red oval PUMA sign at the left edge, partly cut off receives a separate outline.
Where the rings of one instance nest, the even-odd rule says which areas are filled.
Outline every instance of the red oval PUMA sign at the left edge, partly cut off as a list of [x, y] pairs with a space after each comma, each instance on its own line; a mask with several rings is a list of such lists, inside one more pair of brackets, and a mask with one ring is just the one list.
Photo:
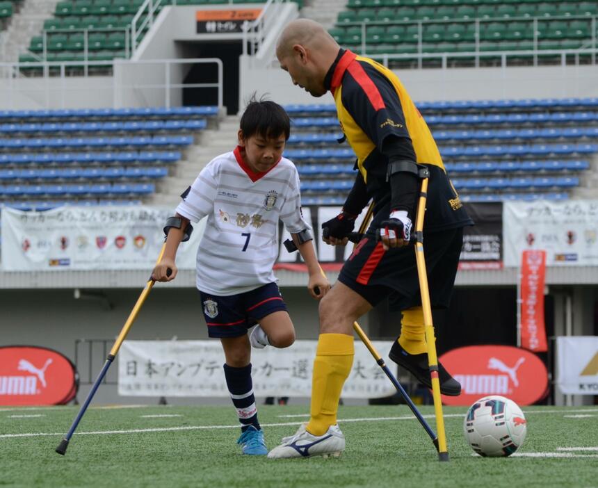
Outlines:
[[0, 347], [0, 405], [64, 405], [79, 387], [67, 357], [33, 345]]

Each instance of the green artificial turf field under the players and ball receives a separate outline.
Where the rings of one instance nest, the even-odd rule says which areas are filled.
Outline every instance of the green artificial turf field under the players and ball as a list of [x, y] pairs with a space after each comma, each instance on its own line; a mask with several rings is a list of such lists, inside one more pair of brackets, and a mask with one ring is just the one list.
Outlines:
[[[8, 487], [598, 487], [598, 408], [528, 407], [517, 457], [472, 455], [464, 407], [444, 407], [451, 462], [407, 407], [341, 407], [337, 459], [276, 461], [236, 446], [232, 407], [91, 407], [65, 457], [54, 448], [76, 407], [0, 407], [0, 486]], [[307, 419], [306, 406], [261, 406], [268, 448]], [[435, 429], [432, 407], [422, 407]]]

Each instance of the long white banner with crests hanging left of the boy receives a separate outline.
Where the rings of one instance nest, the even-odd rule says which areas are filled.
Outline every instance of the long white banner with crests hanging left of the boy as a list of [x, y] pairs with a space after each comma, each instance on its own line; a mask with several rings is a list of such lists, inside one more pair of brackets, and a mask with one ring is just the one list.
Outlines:
[[[43, 212], [2, 209], [2, 268], [123, 270], [154, 267], [172, 209], [61, 206]], [[181, 244], [177, 266], [194, 269], [204, 221]]]

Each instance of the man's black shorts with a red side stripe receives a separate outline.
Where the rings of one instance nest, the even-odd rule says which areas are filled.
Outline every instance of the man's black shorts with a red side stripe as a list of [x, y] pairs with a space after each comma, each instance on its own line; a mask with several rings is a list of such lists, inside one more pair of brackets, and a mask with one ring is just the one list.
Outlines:
[[[446, 308], [451, 301], [463, 244], [463, 228], [432, 232], [423, 236], [430, 303]], [[389, 298], [391, 311], [421, 305], [414, 245], [385, 252], [368, 232], [345, 262], [339, 282], [367, 300], [372, 307]]]

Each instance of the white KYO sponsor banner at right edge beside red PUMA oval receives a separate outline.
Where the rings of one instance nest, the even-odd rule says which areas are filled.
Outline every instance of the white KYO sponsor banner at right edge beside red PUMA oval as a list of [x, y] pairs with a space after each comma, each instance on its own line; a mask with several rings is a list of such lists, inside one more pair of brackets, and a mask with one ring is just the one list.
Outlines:
[[560, 391], [598, 395], [598, 336], [557, 337], [556, 360]]

